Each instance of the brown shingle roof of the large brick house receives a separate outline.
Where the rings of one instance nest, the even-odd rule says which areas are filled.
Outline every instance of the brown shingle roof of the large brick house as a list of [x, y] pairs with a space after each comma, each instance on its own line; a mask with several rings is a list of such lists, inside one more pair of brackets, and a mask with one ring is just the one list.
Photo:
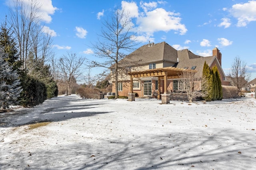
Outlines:
[[204, 61], [210, 65], [214, 59], [216, 59], [215, 56], [198, 56], [188, 49], [177, 51], [166, 42], [142, 45], [142, 47], [138, 48], [133, 53], [124, 58], [126, 62], [130, 61], [130, 63], [133, 62], [143, 64], [156, 61], [170, 61], [172, 63], [178, 63], [176, 65], [177, 68], [191, 69], [192, 66], [196, 66], [194, 70], [197, 70], [196, 76], [198, 77], [202, 76]]

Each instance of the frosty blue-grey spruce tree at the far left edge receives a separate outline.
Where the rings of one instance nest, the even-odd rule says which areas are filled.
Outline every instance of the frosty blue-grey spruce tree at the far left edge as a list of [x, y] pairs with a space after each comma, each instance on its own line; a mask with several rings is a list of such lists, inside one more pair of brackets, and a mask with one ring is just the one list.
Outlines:
[[9, 108], [10, 104], [18, 104], [22, 88], [16, 70], [5, 61], [8, 55], [0, 47], [0, 107]]

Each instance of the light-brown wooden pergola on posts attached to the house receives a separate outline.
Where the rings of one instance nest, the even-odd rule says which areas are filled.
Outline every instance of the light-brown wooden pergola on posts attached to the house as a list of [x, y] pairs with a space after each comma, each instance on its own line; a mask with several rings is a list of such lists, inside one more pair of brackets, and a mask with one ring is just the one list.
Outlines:
[[133, 78], [158, 77], [158, 83], [160, 83], [161, 78], [164, 79], [164, 94], [167, 94], [167, 79], [180, 78], [182, 75], [182, 72], [184, 71], [196, 72], [195, 70], [190, 70], [186, 68], [176, 68], [176, 67], [154, 68], [150, 70], [128, 72], [128, 75], [130, 75], [130, 79], [131, 79], [130, 91], [131, 93], [133, 93]]

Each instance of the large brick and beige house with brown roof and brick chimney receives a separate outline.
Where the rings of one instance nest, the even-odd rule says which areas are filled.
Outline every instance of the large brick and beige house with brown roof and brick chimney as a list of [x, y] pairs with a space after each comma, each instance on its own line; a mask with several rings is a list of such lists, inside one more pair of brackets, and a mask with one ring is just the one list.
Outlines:
[[[217, 48], [212, 50], [212, 56], [202, 57], [195, 55], [188, 49], [177, 51], [166, 42], [143, 45], [120, 61], [120, 64], [125, 63], [130, 73], [119, 77], [118, 95], [128, 96], [131, 89], [140, 97], [152, 97], [155, 92], [174, 92], [179, 90], [178, 74], [182, 70], [190, 69], [196, 70], [196, 77], [202, 77], [205, 61], [210, 68], [217, 66], [222, 85], [229, 86], [230, 82], [226, 80], [221, 67], [221, 58], [222, 54]], [[168, 74], [167, 78], [159, 76], [165, 73]], [[132, 88], [130, 86], [131, 81]], [[114, 91], [115, 85], [113, 83], [112, 92]]]

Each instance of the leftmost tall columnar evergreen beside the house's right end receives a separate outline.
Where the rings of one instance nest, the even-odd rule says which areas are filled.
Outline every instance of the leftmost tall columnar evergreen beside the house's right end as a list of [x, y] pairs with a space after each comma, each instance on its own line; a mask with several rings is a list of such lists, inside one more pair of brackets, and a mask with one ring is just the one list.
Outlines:
[[206, 64], [206, 62], [204, 62], [201, 89], [203, 99], [206, 101], [211, 101], [213, 98], [213, 77], [210, 67], [208, 66], [208, 64]]

